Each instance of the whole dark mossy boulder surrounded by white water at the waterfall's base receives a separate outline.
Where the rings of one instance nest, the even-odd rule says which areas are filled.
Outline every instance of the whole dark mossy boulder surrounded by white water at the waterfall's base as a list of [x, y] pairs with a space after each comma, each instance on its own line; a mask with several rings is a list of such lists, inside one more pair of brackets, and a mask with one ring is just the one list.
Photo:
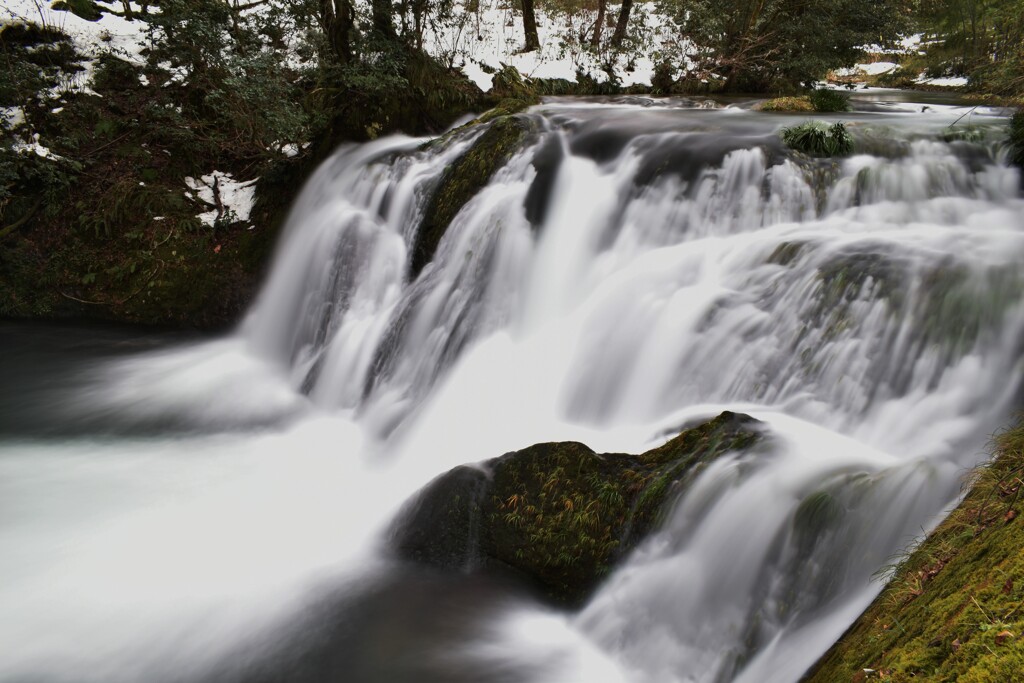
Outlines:
[[639, 456], [567, 441], [456, 468], [399, 517], [393, 548], [442, 569], [517, 575], [579, 605], [703, 466], [758, 443], [759, 425], [723, 413]]

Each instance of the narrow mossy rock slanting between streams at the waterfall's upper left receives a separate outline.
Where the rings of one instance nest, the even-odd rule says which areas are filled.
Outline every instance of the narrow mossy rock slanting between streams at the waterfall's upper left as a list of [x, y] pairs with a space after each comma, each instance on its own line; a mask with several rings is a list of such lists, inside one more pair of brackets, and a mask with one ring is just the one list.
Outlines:
[[444, 171], [430, 199], [413, 244], [414, 278], [433, 259], [437, 245], [462, 207], [486, 186], [535, 132], [535, 124], [521, 117], [502, 116], [485, 125], [487, 129], [469, 151]]

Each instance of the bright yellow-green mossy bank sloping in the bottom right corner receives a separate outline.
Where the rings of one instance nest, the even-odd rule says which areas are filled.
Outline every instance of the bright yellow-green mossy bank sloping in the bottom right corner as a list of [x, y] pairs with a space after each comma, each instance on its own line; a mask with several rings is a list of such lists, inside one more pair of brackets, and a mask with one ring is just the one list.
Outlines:
[[959, 507], [804, 681], [1021, 680], [1024, 423], [995, 442]]

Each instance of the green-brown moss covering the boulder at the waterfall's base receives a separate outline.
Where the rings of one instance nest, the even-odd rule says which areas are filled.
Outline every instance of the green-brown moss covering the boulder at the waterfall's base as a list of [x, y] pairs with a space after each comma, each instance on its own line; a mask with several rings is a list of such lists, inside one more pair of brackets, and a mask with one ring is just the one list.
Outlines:
[[545, 443], [495, 467], [485, 547], [540, 580], [549, 597], [575, 603], [660, 521], [671, 500], [722, 454], [760, 434], [724, 413], [640, 456], [597, 455], [582, 443]]

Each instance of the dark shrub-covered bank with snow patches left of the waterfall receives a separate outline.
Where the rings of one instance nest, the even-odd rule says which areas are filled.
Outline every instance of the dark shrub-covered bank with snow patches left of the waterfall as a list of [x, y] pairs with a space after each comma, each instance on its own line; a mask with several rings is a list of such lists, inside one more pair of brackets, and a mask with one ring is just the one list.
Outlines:
[[[339, 7], [352, 10], [150, 2], [125, 14], [145, 29], [144, 60], [96, 55], [91, 91], [73, 85], [85, 57], [59, 31], [4, 25], [0, 106], [16, 117], [0, 119], [0, 315], [230, 324], [302, 179], [338, 141], [437, 131], [485, 108], [417, 48], [422, 25], [350, 13], [345, 28], [323, 13]], [[260, 178], [249, 221], [218, 193], [189, 196], [185, 178], [214, 170]], [[197, 218], [208, 212], [212, 225]]]

